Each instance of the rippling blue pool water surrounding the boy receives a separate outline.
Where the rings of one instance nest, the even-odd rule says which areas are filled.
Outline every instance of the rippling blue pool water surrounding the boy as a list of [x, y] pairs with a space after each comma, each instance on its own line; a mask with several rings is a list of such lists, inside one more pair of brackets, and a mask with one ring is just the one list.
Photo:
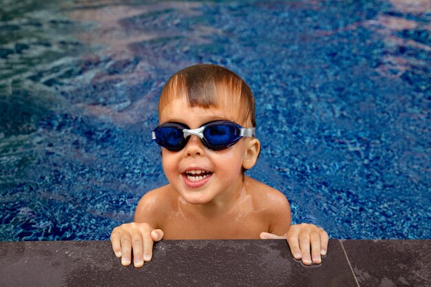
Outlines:
[[167, 183], [158, 95], [194, 63], [253, 89], [248, 173], [293, 222], [430, 238], [426, 1], [41, 2], [0, 8], [0, 240], [106, 240], [132, 221]]

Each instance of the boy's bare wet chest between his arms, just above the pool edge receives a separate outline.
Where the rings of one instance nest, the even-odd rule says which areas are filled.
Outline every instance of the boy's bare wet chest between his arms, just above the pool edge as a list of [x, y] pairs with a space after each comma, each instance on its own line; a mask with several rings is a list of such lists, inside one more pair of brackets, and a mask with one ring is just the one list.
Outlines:
[[234, 213], [225, 216], [203, 217], [176, 214], [162, 222], [164, 239], [259, 239], [269, 231], [269, 224], [259, 213]]

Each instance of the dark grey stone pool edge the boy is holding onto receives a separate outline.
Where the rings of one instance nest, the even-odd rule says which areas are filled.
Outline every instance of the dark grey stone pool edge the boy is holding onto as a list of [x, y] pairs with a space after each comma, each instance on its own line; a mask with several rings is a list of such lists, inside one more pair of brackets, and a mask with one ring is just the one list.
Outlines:
[[0, 242], [0, 286], [430, 286], [431, 240], [335, 240], [322, 264], [285, 240], [162, 240], [143, 268], [109, 241]]

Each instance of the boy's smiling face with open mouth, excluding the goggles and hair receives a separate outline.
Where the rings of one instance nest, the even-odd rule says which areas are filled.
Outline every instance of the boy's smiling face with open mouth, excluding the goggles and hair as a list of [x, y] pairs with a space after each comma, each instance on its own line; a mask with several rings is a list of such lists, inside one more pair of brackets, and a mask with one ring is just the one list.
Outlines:
[[[229, 109], [190, 107], [185, 98], [171, 100], [159, 111], [159, 120], [160, 124], [184, 123], [190, 129], [212, 120], [238, 123]], [[250, 168], [247, 164], [253, 142], [259, 145], [255, 138], [241, 138], [232, 147], [213, 151], [205, 147], [198, 136], [190, 136], [180, 151], [162, 147], [163, 170], [172, 187], [190, 204], [223, 204], [242, 188], [242, 166], [246, 162], [244, 167]]]

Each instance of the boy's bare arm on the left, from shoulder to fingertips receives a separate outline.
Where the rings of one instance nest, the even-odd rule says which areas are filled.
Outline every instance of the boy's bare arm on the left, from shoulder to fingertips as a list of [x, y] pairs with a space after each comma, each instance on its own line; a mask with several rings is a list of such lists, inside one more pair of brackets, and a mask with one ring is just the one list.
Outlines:
[[153, 253], [153, 242], [163, 237], [163, 231], [158, 228], [158, 208], [156, 202], [160, 195], [150, 191], [140, 199], [136, 206], [134, 222], [122, 224], [111, 233], [112, 250], [121, 257], [121, 264], [129, 266], [134, 255], [134, 266], [140, 268], [144, 262], [149, 262]]

